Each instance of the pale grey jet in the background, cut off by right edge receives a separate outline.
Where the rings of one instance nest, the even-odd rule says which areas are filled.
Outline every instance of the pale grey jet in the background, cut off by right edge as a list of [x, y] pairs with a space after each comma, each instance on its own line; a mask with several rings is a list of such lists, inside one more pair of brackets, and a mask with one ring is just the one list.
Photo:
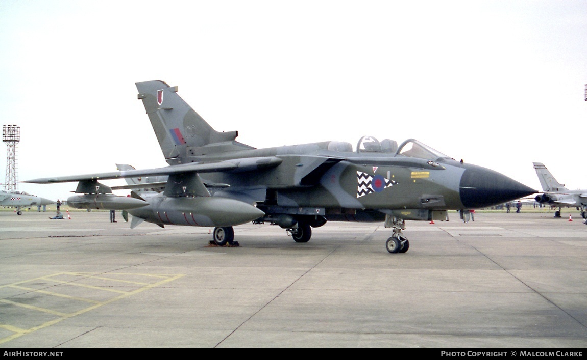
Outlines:
[[538, 175], [538, 180], [544, 193], [537, 195], [534, 200], [537, 203], [548, 204], [552, 207], [558, 207], [554, 212], [554, 217], [561, 217], [562, 207], [574, 207], [581, 211], [583, 219], [587, 219], [587, 190], [569, 190], [565, 184], [561, 184], [551, 172], [546, 169], [543, 163], [532, 163]]

